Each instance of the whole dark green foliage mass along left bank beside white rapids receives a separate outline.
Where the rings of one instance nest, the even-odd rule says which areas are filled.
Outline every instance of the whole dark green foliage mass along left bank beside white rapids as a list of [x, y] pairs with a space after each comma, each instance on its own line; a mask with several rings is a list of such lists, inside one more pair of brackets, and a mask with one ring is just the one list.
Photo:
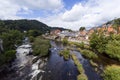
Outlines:
[[0, 65], [9, 63], [15, 58], [16, 46], [22, 43], [22, 38], [23, 35], [18, 30], [8, 30], [7, 32], [2, 32], [0, 34], [0, 39], [3, 40], [3, 51], [0, 54]]

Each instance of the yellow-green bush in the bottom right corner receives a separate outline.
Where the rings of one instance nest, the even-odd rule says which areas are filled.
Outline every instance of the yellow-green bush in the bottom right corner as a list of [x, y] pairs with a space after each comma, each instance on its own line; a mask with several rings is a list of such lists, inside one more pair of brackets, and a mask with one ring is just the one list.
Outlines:
[[103, 78], [104, 80], [120, 80], [120, 66], [107, 66]]

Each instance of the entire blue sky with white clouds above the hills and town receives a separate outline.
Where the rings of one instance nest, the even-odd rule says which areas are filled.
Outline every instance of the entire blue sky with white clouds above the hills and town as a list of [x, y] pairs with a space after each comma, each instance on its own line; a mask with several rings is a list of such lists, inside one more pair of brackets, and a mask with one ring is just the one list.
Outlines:
[[36, 19], [79, 30], [120, 18], [120, 0], [0, 0], [0, 19]]

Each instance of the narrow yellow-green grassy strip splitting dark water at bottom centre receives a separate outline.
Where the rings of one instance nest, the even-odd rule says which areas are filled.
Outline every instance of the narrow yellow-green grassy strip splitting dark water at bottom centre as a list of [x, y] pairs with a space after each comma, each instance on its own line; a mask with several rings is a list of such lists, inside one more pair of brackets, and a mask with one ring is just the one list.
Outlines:
[[71, 54], [71, 57], [74, 61], [74, 64], [77, 66], [77, 69], [79, 71], [79, 75], [77, 76], [77, 80], [88, 80], [87, 76], [84, 74], [84, 69], [82, 67], [82, 64], [80, 64], [80, 61], [76, 57], [75, 54]]

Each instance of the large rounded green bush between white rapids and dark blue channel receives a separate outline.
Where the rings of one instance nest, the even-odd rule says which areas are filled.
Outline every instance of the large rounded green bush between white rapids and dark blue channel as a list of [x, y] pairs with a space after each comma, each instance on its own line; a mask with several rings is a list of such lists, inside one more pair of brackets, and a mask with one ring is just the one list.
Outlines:
[[33, 42], [33, 55], [47, 56], [49, 48], [50, 41], [39, 36]]

